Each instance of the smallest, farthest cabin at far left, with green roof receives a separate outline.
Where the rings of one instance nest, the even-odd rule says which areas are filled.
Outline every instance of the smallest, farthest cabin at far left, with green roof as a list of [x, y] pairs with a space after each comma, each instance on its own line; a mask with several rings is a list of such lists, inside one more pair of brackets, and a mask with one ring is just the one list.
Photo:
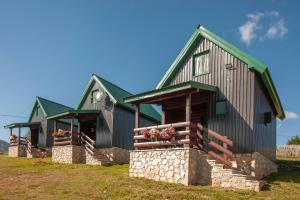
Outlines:
[[[51, 155], [51, 148], [53, 144], [53, 121], [47, 119], [48, 116], [54, 115], [63, 111], [71, 110], [73, 108], [50, 101], [41, 97], [36, 97], [34, 106], [32, 108], [28, 122], [13, 123], [5, 126], [10, 129], [10, 137], [16, 136], [11, 140], [11, 146], [21, 146], [26, 148], [20, 150], [20, 156], [37, 157], [39, 156], [38, 149], [47, 151], [47, 155]], [[69, 127], [70, 122], [67, 120], [59, 120], [58, 128], [63, 129]], [[18, 129], [18, 135], [13, 133], [13, 129]], [[21, 136], [21, 128], [29, 128], [30, 138]], [[16, 155], [16, 154], [14, 154]]]

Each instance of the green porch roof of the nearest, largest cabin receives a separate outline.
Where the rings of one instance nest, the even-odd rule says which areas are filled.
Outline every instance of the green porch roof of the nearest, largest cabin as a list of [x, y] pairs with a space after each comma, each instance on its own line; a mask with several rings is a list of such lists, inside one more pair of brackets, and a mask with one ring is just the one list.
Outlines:
[[151, 90], [151, 91], [144, 92], [141, 94], [136, 94], [136, 95], [125, 98], [125, 102], [132, 103], [132, 102], [142, 101], [144, 99], [149, 99], [149, 98], [166, 95], [166, 94], [170, 94], [170, 93], [174, 93], [174, 92], [179, 92], [179, 91], [183, 91], [183, 90], [187, 90], [187, 89], [193, 89], [193, 88], [205, 90], [205, 91], [211, 91], [211, 92], [215, 92], [218, 89], [215, 86], [207, 85], [204, 83], [199, 83], [196, 81], [188, 81], [188, 82], [184, 82], [184, 83], [179, 83], [177, 85], [172, 85], [172, 86], [167, 86], [167, 87], [163, 87], [163, 88], [156, 89], [156, 90]]

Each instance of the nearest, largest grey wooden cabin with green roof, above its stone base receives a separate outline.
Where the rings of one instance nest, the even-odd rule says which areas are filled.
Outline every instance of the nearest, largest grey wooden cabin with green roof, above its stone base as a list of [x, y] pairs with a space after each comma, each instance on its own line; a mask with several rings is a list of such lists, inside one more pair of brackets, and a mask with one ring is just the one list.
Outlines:
[[267, 65], [203, 26], [154, 90], [125, 102], [161, 106], [163, 125], [158, 129], [183, 126], [180, 133], [185, 136], [177, 137], [177, 143], [149, 142], [140, 131], [153, 127], [140, 124], [136, 113], [136, 149], [198, 146], [218, 159], [224, 152], [230, 156], [259, 152], [270, 160], [276, 158], [276, 119], [284, 119], [285, 114]]

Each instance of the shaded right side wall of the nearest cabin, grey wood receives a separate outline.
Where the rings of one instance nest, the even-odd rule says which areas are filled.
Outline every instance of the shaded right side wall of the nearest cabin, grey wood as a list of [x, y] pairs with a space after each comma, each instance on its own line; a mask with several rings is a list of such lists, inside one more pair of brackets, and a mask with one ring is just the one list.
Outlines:
[[[254, 84], [254, 131], [253, 148], [270, 159], [276, 159], [276, 116], [257, 79]], [[264, 123], [264, 113], [272, 113], [272, 122]]]

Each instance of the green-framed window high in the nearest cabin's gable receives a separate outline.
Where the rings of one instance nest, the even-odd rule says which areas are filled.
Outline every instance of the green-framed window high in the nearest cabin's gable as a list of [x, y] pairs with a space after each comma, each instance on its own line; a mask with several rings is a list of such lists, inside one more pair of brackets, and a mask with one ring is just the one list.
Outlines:
[[194, 76], [209, 73], [209, 51], [204, 51], [193, 56]]

